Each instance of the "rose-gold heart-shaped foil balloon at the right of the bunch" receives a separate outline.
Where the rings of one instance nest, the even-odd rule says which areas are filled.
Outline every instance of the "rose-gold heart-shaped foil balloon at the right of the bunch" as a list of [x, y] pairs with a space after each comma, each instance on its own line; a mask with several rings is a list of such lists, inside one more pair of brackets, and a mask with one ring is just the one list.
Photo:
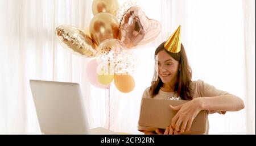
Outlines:
[[160, 31], [160, 22], [148, 19], [141, 8], [134, 6], [122, 16], [118, 39], [131, 48], [154, 40]]

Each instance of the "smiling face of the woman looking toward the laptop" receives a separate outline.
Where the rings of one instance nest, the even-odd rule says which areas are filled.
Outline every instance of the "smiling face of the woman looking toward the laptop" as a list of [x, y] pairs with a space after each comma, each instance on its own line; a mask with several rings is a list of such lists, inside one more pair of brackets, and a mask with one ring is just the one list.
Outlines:
[[174, 85], [177, 82], [177, 74], [179, 73], [179, 61], [172, 58], [164, 50], [158, 52], [156, 64], [158, 65], [158, 76], [164, 84]]

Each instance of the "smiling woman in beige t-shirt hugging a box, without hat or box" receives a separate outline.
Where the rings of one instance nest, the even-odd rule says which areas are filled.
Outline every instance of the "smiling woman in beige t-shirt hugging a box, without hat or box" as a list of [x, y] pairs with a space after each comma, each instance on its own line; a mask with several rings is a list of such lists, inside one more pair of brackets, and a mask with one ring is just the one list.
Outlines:
[[[189, 131], [193, 119], [201, 110], [207, 110], [210, 114], [215, 112], [225, 114], [226, 111], [238, 111], [244, 108], [243, 101], [239, 97], [218, 90], [202, 80], [191, 81], [192, 71], [183, 45], [180, 45], [178, 53], [172, 53], [164, 47], [164, 44], [165, 42], [160, 44], [155, 51], [158, 76], [144, 91], [142, 98], [168, 99], [176, 96], [189, 102], [175, 107], [170, 106], [172, 110], [177, 110], [177, 114], [165, 130], [158, 128], [155, 132], [149, 132], [138, 126], [139, 131], [144, 134], [181, 134]], [[207, 119], [205, 134], [208, 134], [208, 131]]]

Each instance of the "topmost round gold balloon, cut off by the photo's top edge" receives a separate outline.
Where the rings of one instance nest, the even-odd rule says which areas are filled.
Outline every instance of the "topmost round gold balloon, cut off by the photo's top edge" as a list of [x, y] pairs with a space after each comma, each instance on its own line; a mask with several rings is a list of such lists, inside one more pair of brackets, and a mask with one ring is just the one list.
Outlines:
[[117, 13], [119, 3], [117, 0], [94, 0], [92, 3], [93, 15], [100, 12], [109, 12], [115, 15]]

